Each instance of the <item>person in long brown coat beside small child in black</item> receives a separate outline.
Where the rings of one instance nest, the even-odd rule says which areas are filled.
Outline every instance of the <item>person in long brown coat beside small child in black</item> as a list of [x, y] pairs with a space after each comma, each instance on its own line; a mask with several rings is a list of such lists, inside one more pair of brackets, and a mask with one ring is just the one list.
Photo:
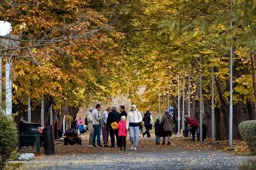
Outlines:
[[167, 145], [170, 144], [172, 131], [173, 131], [173, 118], [172, 115], [169, 113], [169, 110], [165, 110], [165, 113], [163, 114], [163, 117], [161, 119], [161, 124], [165, 130], [165, 135], [163, 136], [163, 143], [165, 144], [165, 137], [168, 138]]

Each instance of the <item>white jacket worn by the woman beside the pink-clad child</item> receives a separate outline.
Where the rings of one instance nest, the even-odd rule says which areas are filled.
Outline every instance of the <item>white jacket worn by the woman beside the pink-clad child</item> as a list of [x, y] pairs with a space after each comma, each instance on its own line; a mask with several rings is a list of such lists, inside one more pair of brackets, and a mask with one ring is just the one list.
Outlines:
[[138, 127], [138, 122], [141, 122], [142, 119], [141, 113], [137, 108], [134, 111], [130, 110], [127, 114], [126, 128], [128, 129], [129, 126]]

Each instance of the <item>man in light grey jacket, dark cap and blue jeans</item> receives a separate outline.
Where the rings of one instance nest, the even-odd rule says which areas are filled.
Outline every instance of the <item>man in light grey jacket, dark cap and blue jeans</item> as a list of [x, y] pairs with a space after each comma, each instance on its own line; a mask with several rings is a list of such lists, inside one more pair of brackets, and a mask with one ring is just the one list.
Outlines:
[[101, 105], [97, 104], [96, 109], [92, 110], [92, 127], [93, 127], [93, 136], [92, 136], [92, 147], [96, 147], [95, 138], [97, 136], [97, 145], [98, 147], [103, 147], [101, 145], [101, 119], [104, 118], [105, 113], [101, 116], [100, 114]]

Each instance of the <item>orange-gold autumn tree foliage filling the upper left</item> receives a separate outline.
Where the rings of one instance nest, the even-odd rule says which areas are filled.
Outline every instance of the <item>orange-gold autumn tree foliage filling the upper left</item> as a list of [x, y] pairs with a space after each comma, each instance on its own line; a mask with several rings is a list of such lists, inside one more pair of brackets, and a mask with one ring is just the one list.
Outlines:
[[[128, 4], [117, 2], [102, 2], [101, 8], [95, 8], [94, 1], [73, 0], [1, 4], [2, 20], [11, 22], [13, 34], [20, 37], [18, 48], [1, 49], [18, 75], [13, 81], [17, 121], [26, 118], [28, 97], [35, 115], [40, 101], [46, 102], [46, 120], [51, 105], [56, 115], [62, 106], [75, 109], [75, 118], [91, 95], [95, 100], [110, 98], [124, 63], [119, 46], [124, 34], [115, 32], [115, 25]], [[38, 116], [34, 119], [39, 121]]]

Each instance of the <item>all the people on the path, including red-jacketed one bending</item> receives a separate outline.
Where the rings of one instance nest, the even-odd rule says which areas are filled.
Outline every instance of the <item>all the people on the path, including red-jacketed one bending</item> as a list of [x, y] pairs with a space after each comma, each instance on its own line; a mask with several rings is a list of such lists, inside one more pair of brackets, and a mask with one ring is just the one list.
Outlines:
[[[101, 105], [97, 104], [95, 109], [91, 108], [87, 112], [88, 129], [89, 129], [89, 147], [115, 147], [115, 138], [117, 147], [120, 150], [126, 150], [126, 137], [128, 136], [131, 143], [131, 149], [137, 150], [138, 140], [139, 140], [139, 123], [144, 122], [146, 131], [142, 133], [144, 137], [150, 137], [150, 130], [152, 126], [155, 127], [155, 144], [160, 144], [160, 137], [163, 137], [163, 143], [165, 144], [165, 138], [167, 137], [167, 145], [170, 144], [170, 139], [173, 133], [173, 118], [169, 113], [169, 110], [165, 110], [162, 119], [156, 119], [155, 125], [153, 122], [153, 117], [149, 110], [146, 111], [144, 117], [140, 111], [137, 110], [136, 105], [133, 103], [131, 109], [127, 113], [125, 111], [125, 106], [121, 105], [119, 111], [115, 106], [108, 107], [103, 114], [100, 114]], [[81, 119], [81, 118], [80, 118]], [[198, 123], [190, 118], [188, 115], [184, 116], [187, 120], [188, 126], [192, 127], [192, 141], [195, 140], [195, 131], [198, 128]], [[117, 126], [111, 126], [112, 123], [116, 122]], [[101, 144], [101, 132], [103, 145]], [[110, 136], [110, 145], [109, 144]], [[97, 140], [96, 140], [97, 137]], [[96, 146], [97, 141], [97, 146]]]

